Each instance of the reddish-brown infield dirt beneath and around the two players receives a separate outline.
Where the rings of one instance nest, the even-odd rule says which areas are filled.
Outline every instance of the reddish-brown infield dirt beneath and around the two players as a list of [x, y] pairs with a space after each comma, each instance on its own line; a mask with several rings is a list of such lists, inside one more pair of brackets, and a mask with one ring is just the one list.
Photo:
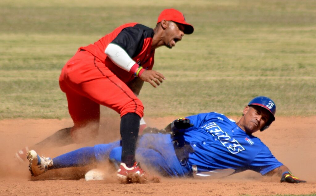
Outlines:
[[[238, 120], [236, 117], [232, 117]], [[163, 128], [174, 117], [146, 119], [150, 126]], [[51, 170], [30, 177], [28, 164], [20, 164], [14, 153], [70, 127], [70, 119], [0, 121], [0, 195], [276, 195], [316, 194], [316, 117], [277, 117], [276, 122], [258, 136], [276, 158], [288, 166], [305, 184], [280, 183], [279, 178], [262, 177], [252, 171], [221, 179], [166, 179], [160, 183], [121, 184], [112, 171], [105, 180], [88, 181], [82, 177], [90, 168]], [[40, 154], [55, 157], [82, 146], [119, 139], [118, 119], [102, 119], [97, 141], [63, 148], [43, 149]]]

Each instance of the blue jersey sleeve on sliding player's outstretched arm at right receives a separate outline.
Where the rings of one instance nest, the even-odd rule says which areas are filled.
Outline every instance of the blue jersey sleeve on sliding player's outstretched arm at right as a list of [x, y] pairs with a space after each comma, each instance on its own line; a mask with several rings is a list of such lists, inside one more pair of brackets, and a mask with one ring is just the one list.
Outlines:
[[272, 155], [269, 148], [265, 146], [251, 162], [250, 169], [264, 175], [282, 165], [283, 164]]

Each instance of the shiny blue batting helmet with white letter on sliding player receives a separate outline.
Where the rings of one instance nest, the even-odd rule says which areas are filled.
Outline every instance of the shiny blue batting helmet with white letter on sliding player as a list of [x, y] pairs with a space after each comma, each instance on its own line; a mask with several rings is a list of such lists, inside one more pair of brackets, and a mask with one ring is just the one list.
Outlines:
[[265, 123], [265, 126], [261, 128], [260, 131], [267, 129], [275, 120], [274, 115], [276, 114], [276, 104], [274, 103], [274, 101], [272, 101], [272, 99], [263, 96], [255, 97], [249, 102], [248, 106], [249, 105], [258, 105], [270, 112], [270, 119], [267, 123]]

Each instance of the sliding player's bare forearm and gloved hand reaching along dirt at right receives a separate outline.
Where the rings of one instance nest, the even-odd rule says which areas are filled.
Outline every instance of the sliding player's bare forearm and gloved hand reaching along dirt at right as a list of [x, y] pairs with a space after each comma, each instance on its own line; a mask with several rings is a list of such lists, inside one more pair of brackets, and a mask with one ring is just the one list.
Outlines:
[[300, 180], [299, 178], [295, 177], [288, 167], [282, 165], [278, 168], [273, 169], [272, 171], [268, 172], [266, 175], [278, 175], [281, 177], [281, 182], [287, 183], [305, 183], [305, 180]]

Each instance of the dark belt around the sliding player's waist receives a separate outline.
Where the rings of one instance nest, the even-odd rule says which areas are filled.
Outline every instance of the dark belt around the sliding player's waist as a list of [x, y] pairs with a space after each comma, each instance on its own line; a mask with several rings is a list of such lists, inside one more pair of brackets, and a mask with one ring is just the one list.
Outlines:
[[178, 142], [178, 140], [173, 140], [172, 143], [179, 163], [182, 166], [183, 171], [185, 173], [185, 176], [192, 177], [192, 167], [190, 166], [188, 161], [189, 153], [193, 152], [191, 145], [183, 144], [182, 142]]

